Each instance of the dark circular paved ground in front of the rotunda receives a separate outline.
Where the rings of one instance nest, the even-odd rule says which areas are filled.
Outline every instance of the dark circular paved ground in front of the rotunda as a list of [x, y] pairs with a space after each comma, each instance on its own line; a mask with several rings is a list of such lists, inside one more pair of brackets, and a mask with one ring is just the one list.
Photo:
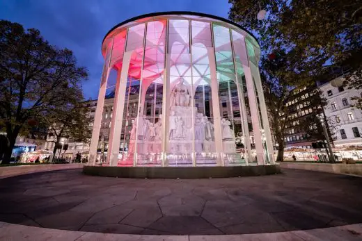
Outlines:
[[362, 222], [362, 178], [283, 170], [212, 179], [84, 176], [0, 179], [0, 221], [103, 233], [235, 234]]

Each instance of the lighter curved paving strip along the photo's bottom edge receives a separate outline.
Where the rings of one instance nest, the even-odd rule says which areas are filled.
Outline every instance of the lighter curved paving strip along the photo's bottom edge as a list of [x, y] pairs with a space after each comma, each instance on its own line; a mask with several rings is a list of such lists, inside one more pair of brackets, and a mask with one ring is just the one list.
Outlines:
[[362, 240], [362, 224], [318, 228], [306, 231], [242, 235], [131, 235], [92, 233], [36, 228], [0, 222], [0, 240], [59, 241], [357, 241]]

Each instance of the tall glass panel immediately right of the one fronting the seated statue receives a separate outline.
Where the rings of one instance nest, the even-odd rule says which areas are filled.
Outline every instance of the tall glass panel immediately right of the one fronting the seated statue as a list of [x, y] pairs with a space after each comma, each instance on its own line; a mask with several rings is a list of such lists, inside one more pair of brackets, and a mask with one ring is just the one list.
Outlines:
[[216, 165], [214, 115], [207, 47], [212, 46], [210, 24], [192, 22], [192, 83], [194, 92], [194, 150], [196, 165]]

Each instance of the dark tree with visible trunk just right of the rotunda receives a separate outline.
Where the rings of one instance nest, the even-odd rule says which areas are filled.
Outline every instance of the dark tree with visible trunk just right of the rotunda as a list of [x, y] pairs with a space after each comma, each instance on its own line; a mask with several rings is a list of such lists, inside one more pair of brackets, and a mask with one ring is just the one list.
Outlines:
[[[311, 115], [321, 113], [322, 106], [325, 105], [323, 99], [320, 97], [320, 90], [315, 85], [308, 86], [308, 97], [301, 97], [304, 95], [304, 88], [295, 88], [290, 85], [290, 76], [294, 76], [292, 72], [288, 72], [290, 67], [290, 60], [293, 58], [289, 56], [290, 53], [280, 51], [276, 54], [274, 60], [269, 60], [262, 57], [260, 67], [262, 85], [264, 88], [265, 103], [268, 108], [269, 122], [274, 133], [276, 143], [278, 143], [278, 156], [277, 161], [283, 161], [283, 154], [285, 148], [285, 135], [288, 134], [290, 128], [298, 128], [299, 130], [309, 129], [309, 126], [317, 124], [317, 120], [313, 122], [304, 122], [304, 116], [298, 115], [296, 105], [290, 105], [291, 101], [297, 101], [305, 108], [311, 109]], [[291, 75], [292, 74], [292, 75]], [[308, 74], [299, 73], [304, 78]], [[296, 76], [297, 77], [297, 76]], [[305, 96], [305, 95], [304, 95]], [[306, 105], [304, 105], [306, 103]], [[295, 126], [295, 127], [294, 127]]]

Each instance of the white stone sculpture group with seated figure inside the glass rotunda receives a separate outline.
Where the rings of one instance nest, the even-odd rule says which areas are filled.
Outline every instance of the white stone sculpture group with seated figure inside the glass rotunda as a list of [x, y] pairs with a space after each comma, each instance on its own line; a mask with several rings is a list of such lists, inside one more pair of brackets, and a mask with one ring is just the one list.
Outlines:
[[[182, 78], [171, 91], [169, 110], [167, 153], [189, 155], [193, 150], [192, 140], [195, 144], [194, 151], [197, 153], [214, 151], [214, 124], [192, 106], [190, 90]], [[136, 152], [141, 155], [162, 152], [162, 115], [159, 115], [157, 122], [156, 119], [157, 117], [151, 122], [145, 115], [134, 119], [129, 131], [129, 152], [134, 151], [135, 142]], [[221, 119], [221, 137], [223, 142], [232, 144], [232, 149], [235, 149], [235, 135], [230, 125], [229, 120]]]

